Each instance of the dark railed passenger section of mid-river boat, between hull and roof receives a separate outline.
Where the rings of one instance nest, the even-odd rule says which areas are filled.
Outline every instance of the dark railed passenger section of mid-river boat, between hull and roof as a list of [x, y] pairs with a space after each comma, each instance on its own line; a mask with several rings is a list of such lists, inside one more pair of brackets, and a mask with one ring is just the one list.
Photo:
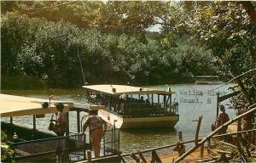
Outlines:
[[177, 103], [125, 103], [119, 110], [123, 116], [177, 115]]

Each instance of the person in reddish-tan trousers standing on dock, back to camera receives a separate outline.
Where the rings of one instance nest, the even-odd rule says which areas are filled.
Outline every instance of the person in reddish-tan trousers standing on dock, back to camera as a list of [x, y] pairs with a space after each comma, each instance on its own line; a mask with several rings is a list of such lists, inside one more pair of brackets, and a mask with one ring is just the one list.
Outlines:
[[100, 157], [101, 141], [107, 130], [107, 122], [102, 120], [102, 117], [95, 115], [93, 110], [89, 110], [89, 117], [83, 124], [83, 134], [86, 128], [90, 128], [90, 139], [95, 157]]

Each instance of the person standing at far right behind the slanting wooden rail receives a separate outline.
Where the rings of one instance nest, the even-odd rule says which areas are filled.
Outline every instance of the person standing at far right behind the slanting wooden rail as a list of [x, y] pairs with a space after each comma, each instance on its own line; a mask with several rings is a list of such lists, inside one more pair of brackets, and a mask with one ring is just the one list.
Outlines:
[[[221, 113], [218, 114], [218, 117], [217, 117], [217, 120], [216, 120], [216, 122], [217, 122], [217, 128], [218, 128], [219, 126], [224, 125], [225, 122], [230, 121], [229, 115], [227, 115], [227, 114], [225, 113], [224, 105], [220, 105], [220, 106], [219, 106], [219, 109], [220, 109]], [[220, 132], [218, 132], [218, 133], [219, 133], [219, 134], [223, 134], [223, 133], [227, 132], [227, 129], [228, 129], [228, 126], [225, 126], [225, 127], [223, 127], [223, 129], [222, 129]]]

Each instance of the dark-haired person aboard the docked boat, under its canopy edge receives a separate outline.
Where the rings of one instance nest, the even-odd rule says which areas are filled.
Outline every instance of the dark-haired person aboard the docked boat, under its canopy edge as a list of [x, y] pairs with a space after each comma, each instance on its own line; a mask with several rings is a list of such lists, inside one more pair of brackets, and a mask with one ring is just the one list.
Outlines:
[[55, 126], [53, 127], [53, 132], [57, 134], [57, 136], [64, 136], [67, 134], [67, 115], [64, 113], [64, 104], [57, 103], [55, 104], [56, 110], [58, 110], [57, 119], [51, 120], [55, 121]]

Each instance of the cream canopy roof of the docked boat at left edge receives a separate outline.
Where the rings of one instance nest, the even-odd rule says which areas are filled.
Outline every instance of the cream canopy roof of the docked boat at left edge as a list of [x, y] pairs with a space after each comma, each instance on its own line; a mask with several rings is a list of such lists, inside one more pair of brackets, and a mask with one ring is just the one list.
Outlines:
[[[49, 102], [41, 98], [27, 98], [8, 94], [0, 94], [0, 115], [1, 117], [23, 116], [23, 115], [44, 115], [55, 113], [56, 110], [52, 101], [49, 108], [44, 109], [41, 105], [43, 102]], [[69, 110], [68, 104], [64, 104], [64, 112]]]

